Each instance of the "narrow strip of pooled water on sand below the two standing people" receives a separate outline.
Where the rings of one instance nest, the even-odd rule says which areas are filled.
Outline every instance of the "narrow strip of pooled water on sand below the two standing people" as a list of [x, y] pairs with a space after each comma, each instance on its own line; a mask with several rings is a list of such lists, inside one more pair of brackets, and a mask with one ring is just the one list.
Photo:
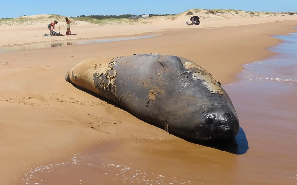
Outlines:
[[[161, 34], [155, 35], [147, 35], [141, 37], [125, 37], [125, 38], [114, 38], [114, 39], [86, 39], [86, 40], [78, 40], [78, 41], [61, 41], [61, 42], [45, 42], [45, 43], [35, 43], [35, 44], [25, 44], [21, 46], [6, 46], [0, 47], [0, 53], [4, 52], [15, 52], [21, 50], [28, 50], [28, 49], [39, 49], [39, 48], [48, 48], [48, 47], [57, 47], [57, 46], [71, 46], [77, 44], [91, 44], [91, 43], [100, 43], [100, 42], [113, 42], [113, 41], [125, 41], [125, 40], [134, 40], [140, 38], [150, 38], [159, 36]], [[56, 36], [61, 37], [61, 36]]]

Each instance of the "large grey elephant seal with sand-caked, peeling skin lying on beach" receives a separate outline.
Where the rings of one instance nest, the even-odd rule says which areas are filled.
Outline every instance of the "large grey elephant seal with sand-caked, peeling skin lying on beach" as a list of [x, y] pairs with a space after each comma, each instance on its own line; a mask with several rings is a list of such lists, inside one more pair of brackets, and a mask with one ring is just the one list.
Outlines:
[[233, 104], [210, 73], [172, 55], [86, 59], [65, 80], [189, 140], [230, 141], [239, 131]]

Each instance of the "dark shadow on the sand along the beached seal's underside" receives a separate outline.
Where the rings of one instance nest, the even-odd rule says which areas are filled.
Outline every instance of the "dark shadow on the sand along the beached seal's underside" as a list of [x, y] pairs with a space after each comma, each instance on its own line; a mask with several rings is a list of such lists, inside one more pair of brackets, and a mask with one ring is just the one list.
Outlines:
[[[81, 90], [81, 91], [84, 91], [92, 96], [95, 96], [97, 97], [98, 99], [102, 100], [102, 101], [105, 101], [109, 104], [112, 104], [113, 106], [115, 107], [118, 107], [126, 112], [129, 112], [131, 115], [135, 116], [136, 118], [146, 122], [146, 123], [149, 123], [153, 126], [156, 126], [158, 128], [161, 128], [164, 130], [164, 128], [154, 124], [154, 123], [151, 123], [151, 122], [148, 122], [146, 120], [143, 120], [142, 118], [139, 118], [137, 115], [134, 115], [132, 112], [130, 112], [129, 110], [127, 110], [126, 108], [124, 107], [121, 107], [120, 105], [118, 104], [115, 104], [114, 102], [108, 100], [108, 99], [105, 99], [91, 91], [88, 91], [86, 89], [82, 89], [80, 88], [79, 86], [75, 85], [74, 83], [71, 83], [72, 86], [74, 86], [75, 88]], [[178, 135], [176, 135], [178, 136]], [[185, 141], [188, 141], [188, 142], [191, 142], [191, 143], [194, 143], [194, 144], [199, 144], [199, 145], [202, 145], [202, 146], [206, 146], [206, 147], [211, 147], [211, 148], [215, 148], [215, 149], [218, 149], [218, 150], [221, 150], [221, 151], [225, 151], [225, 152], [229, 152], [229, 153], [232, 153], [232, 154], [236, 154], [236, 155], [242, 155], [242, 154], [245, 154], [247, 152], [247, 150], [249, 149], [249, 145], [248, 145], [248, 141], [247, 141], [247, 137], [244, 133], [244, 130], [239, 127], [239, 132], [235, 138], [235, 140], [233, 142], [205, 142], [205, 141], [193, 141], [193, 140], [189, 140], [189, 139], [185, 139], [183, 138], [182, 136], [178, 136], [179, 138], [181, 139], [184, 139]]]

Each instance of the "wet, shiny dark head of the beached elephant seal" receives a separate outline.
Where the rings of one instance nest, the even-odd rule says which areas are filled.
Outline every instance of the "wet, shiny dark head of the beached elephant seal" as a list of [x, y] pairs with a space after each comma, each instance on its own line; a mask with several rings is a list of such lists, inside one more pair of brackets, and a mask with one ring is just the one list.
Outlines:
[[210, 141], [231, 141], [239, 132], [237, 114], [228, 104], [208, 107], [200, 116], [195, 138]]

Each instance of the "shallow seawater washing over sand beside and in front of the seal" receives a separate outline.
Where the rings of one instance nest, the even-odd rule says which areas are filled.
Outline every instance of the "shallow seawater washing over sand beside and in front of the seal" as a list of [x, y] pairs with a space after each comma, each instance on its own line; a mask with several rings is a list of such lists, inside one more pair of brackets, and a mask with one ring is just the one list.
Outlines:
[[224, 86], [241, 130], [237, 145], [182, 139], [106, 141], [71, 161], [27, 173], [23, 184], [297, 184], [297, 34], [276, 36], [280, 54], [244, 65]]

